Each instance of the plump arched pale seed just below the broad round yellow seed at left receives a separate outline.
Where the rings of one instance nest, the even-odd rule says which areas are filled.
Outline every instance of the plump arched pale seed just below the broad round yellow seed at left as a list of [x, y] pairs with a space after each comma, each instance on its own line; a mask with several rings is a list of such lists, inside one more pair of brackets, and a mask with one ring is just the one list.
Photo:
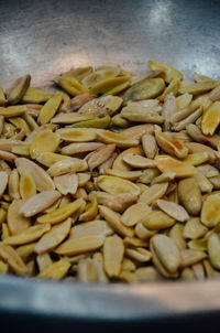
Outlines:
[[85, 160], [69, 158], [56, 162], [47, 170], [47, 172], [51, 176], [57, 176], [69, 172], [86, 171], [87, 169], [88, 164]]

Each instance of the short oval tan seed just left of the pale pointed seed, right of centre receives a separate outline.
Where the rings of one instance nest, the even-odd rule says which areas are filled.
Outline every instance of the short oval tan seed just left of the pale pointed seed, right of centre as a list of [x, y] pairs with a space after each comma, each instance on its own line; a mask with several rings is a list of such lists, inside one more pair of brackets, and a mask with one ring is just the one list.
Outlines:
[[133, 226], [138, 223], [144, 223], [147, 214], [151, 212], [151, 207], [145, 203], [138, 203], [130, 206], [121, 216], [121, 222], [127, 226]]

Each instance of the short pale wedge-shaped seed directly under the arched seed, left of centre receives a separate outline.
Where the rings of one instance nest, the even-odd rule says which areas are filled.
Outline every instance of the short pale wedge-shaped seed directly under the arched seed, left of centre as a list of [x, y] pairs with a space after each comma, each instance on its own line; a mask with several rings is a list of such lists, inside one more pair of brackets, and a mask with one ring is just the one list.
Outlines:
[[54, 178], [54, 184], [63, 195], [75, 194], [78, 189], [78, 176], [75, 172], [57, 175]]

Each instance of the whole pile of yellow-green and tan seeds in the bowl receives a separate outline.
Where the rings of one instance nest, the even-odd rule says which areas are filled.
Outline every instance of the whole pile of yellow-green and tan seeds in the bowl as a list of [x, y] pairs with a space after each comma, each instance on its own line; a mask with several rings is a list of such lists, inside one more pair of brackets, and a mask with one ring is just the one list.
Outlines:
[[150, 61], [0, 87], [0, 272], [219, 277], [220, 82]]

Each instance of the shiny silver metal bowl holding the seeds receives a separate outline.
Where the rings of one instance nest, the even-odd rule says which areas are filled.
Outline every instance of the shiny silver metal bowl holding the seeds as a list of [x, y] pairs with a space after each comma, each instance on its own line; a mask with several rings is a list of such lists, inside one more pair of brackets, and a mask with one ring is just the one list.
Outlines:
[[[186, 77], [220, 76], [218, 0], [8, 0], [0, 1], [0, 12], [4, 87], [29, 72], [35, 86], [44, 86], [88, 64], [120, 64], [141, 74], [148, 58]], [[112, 331], [132, 323], [210, 332], [220, 315], [219, 287], [219, 281], [85, 286], [1, 276], [1, 329]]]

